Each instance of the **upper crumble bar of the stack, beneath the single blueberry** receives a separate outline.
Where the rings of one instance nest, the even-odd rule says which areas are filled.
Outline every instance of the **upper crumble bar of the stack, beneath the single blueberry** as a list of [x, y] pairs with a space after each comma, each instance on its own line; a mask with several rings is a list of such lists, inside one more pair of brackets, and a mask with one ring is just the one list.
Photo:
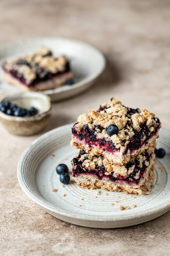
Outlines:
[[[108, 127], [117, 127], [110, 135]], [[112, 98], [78, 117], [72, 128], [71, 145], [91, 155], [103, 155], [111, 164], [123, 165], [132, 156], [155, 147], [161, 123], [147, 110], [126, 108]], [[115, 130], [113, 129], [113, 132]]]

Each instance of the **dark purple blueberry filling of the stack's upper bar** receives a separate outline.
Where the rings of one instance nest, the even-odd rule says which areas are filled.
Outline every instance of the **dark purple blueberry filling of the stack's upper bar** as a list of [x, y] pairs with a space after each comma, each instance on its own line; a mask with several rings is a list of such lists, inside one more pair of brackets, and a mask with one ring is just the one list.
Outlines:
[[[130, 111], [132, 111], [132, 109]], [[155, 119], [156, 125], [155, 125], [155, 129], [152, 132], [150, 132], [146, 124], [141, 126], [140, 131], [136, 131], [133, 129], [134, 135], [131, 138], [129, 138], [128, 144], [126, 145], [126, 150], [124, 151], [123, 154], [126, 154], [128, 150], [132, 152], [133, 150], [139, 149], [142, 145], [148, 143], [148, 140], [157, 133], [160, 127], [160, 121], [158, 118], [154, 118], [154, 119]], [[90, 129], [88, 125], [84, 125], [82, 129], [78, 132], [75, 128], [76, 124], [77, 123], [75, 123], [72, 128], [73, 135], [77, 136], [78, 139], [83, 140], [89, 146], [96, 145], [96, 146], [99, 146], [99, 148], [102, 148], [104, 151], [108, 151], [111, 153], [112, 152], [115, 153], [120, 150], [120, 148], [117, 149], [115, 147], [115, 144], [113, 143], [112, 140], [109, 140], [108, 138], [102, 138], [102, 139], [97, 138], [96, 131], [99, 132], [100, 130], [102, 132], [102, 130], [104, 129], [102, 126], [98, 125], [98, 126], [94, 126], [93, 129]], [[126, 125], [129, 125], [129, 123], [127, 122]], [[126, 126], [125, 126], [125, 129], [126, 129]], [[122, 146], [124, 146], [125, 143], [126, 143], [126, 140], [121, 141]]]

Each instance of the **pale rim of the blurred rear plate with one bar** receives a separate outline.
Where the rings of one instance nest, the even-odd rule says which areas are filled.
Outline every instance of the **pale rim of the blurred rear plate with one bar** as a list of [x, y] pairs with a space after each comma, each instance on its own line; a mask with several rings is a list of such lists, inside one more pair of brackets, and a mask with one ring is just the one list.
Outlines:
[[[96, 47], [93, 47], [92, 45], [85, 43], [81, 40], [75, 40], [75, 39], [70, 39], [70, 38], [64, 38], [64, 37], [57, 37], [57, 36], [38, 36], [38, 37], [28, 37], [28, 38], [21, 38], [19, 40], [15, 40], [12, 43], [4, 43], [2, 45], [0, 45], [0, 54], [1, 52], [5, 51], [7, 48], [13, 48], [15, 47], [15, 45], [18, 44], [24, 44], [24, 43], [29, 43], [29, 42], [34, 42], [34, 41], [40, 41], [40, 40], [64, 40], [66, 42], [71, 42], [71, 43], [77, 43], [79, 45], [83, 45], [84, 47], [90, 48], [91, 50], [93, 50], [94, 52], [96, 52], [100, 58], [101, 58], [101, 67], [100, 69], [95, 72], [95, 74], [91, 74], [90, 76], [86, 77], [85, 79], [83, 79], [82, 81], [79, 81], [77, 83], [74, 83], [73, 85], [64, 85], [62, 87], [59, 88], [55, 88], [53, 90], [44, 90], [42, 91], [44, 94], [47, 94], [49, 96], [53, 96], [54, 94], [59, 94], [65, 91], [70, 91], [72, 89], [76, 89], [79, 87], [82, 87], [88, 83], [93, 83], [93, 81], [95, 79], [97, 79], [99, 77], [100, 74], [102, 74], [102, 72], [104, 71], [105, 67], [106, 67], [106, 58], [104, 56], [104, 54], [97, 49]], [[2, 58], [0, 58], [0, 61], [2, 60]]]

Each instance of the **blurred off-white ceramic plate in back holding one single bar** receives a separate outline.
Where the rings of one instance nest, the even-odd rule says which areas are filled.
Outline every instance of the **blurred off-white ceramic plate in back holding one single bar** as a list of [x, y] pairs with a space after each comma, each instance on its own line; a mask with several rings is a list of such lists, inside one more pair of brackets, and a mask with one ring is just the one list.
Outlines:
[[[32, 38], [1, 46], [0, 63], [6, 58], [15, 58], [40, 47], [49, 47], [56, 56], [67, 56], [74, 73], [73, 85], [44, 91], [52, 101], [66, 99], [87, 90], [104, 70], [105, 58], [101, 52], [86, 43], [65, 38]], [[19, 92], [13, 85], [3, 82], [1, 73], [0, 91], [10, 94]]]

